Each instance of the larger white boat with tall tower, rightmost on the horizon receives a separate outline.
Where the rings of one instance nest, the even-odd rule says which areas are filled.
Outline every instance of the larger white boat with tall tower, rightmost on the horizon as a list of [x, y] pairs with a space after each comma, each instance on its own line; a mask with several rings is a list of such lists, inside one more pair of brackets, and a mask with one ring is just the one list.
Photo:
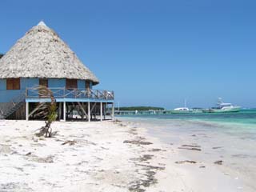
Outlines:
[[217, 106], [210, 109], [203, 110], [206, 113], [227, 113], [227, 112], [238, 112], [241, 106], [233, 106], [231, 103], [222, 102], [222, 98], [218, 98]]

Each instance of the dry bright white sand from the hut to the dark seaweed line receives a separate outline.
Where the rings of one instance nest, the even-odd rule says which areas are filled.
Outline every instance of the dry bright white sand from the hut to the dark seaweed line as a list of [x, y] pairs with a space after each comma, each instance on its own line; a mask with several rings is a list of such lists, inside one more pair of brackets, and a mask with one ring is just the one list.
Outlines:
[[[55, 138], [34, 138], [44, 122], [0, 122], [0, 191], [155, 191], [165, 168], [157, 143], [118, 122], [54, 122]], [[70, 143], [64, 142], [72, 141]], [[135, 144], [124, 143], [134, 141]], [[139, 144], [142, 142], [142, 144]], [[143, 186], [144, 185], [144, 186]], [[150, 187], [147, 187], [150, 186]]]

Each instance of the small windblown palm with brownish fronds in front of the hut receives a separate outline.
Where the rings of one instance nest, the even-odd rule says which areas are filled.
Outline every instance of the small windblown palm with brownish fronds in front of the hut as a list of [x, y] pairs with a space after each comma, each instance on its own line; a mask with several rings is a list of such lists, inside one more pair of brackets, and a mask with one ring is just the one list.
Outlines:
[[50, 102], [40, 102], [38, 103], [37, 109], [38, 113], [36, 117], [44, 118], [46, 120], [46, 125], [39, 129], [39, 132], [35, 134], [38, 137], [51, 138], [57, 132], [52, 132], [50, 125], [52, 122], [56, 121], [57, 118], [57, 105], [54, 98], [53, 92], [46, 86], [38, 86], [39, 98], [50, 98]]

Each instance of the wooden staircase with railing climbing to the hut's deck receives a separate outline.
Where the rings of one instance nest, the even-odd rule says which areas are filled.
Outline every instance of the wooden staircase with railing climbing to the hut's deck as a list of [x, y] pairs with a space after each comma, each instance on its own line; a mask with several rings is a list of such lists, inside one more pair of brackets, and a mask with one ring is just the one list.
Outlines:
[[2, 103], [0, 106], [0, 119], [6, 119], [10, 117], [11, 114], [14, 114], [17, 110], [21, 108], [26, 102], [25, 93], [18, 95], [11, 99], [10, 102]]

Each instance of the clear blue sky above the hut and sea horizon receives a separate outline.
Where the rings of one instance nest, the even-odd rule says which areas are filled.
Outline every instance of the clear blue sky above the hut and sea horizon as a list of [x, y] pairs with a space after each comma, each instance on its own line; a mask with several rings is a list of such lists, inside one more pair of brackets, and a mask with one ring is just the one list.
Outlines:
[[43, 20], [121, 106], [256, 106], [256, 2], [2, 0], [0, 52]]

